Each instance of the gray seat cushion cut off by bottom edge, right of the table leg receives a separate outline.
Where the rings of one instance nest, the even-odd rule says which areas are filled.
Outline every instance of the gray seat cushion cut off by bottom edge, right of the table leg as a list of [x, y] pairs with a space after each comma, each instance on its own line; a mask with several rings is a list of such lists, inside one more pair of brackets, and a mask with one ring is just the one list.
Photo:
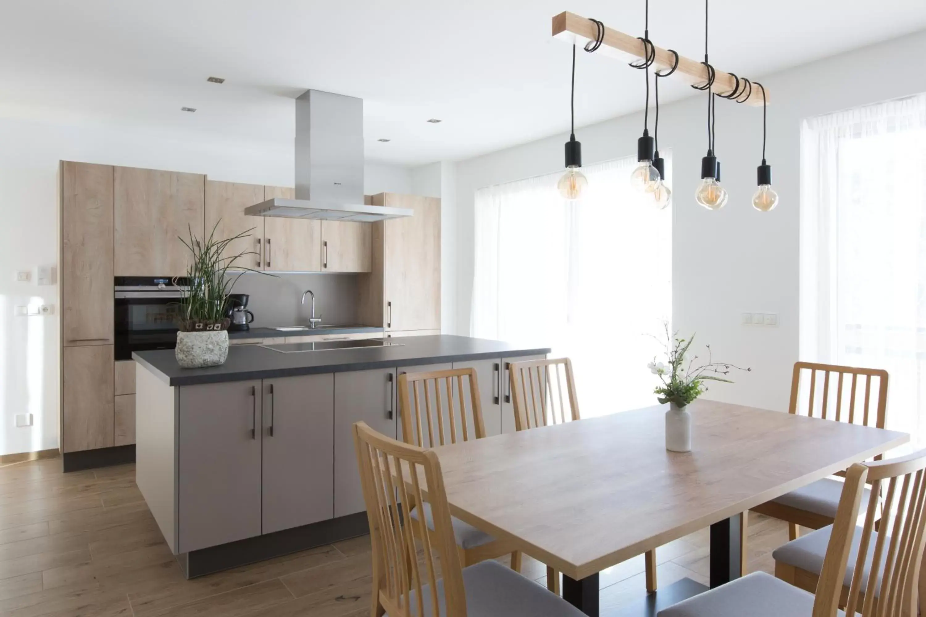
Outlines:
[[803, 589], [754, 572], [673, 604], [659, 611], [658, 617], [810, 617], [813, 600], [813, 594]]

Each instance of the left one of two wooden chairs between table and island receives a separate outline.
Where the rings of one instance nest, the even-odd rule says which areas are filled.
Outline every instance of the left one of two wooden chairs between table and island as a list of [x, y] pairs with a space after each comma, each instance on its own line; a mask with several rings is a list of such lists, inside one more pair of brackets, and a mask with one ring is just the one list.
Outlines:
[[[419, 448], [485, 437], [479, 380], [474, 368], [455, 368], [399, 376], [399, 412], [402, 438]], [[425, 521], [433, 528], [431, 506], [423, 504]], [[419, 509], [411, 511], [418, 518]], [[517, 545], [498, 540], [481, 529], [451, 519], [463, 567], [503, 555], [511, 555], [511, 569], [520, 571], [521, 554]]]

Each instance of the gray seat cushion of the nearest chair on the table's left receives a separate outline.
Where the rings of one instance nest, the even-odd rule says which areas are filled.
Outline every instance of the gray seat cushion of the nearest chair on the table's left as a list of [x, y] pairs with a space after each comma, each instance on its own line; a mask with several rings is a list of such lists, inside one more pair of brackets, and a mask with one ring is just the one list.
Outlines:
[[[463, 568], [468, 617], [585, 617], [585, 613], [546, 587], [505, 567], [498, 561], [480, 561]], [[409, 598], [410, 614], [418, 615], [416, 595]], [[433, 615], [429, 586], [421, 588], [425, 617]], [[447, 614], [444, 581], [437, 582], [437, 603], [441, 616]]]

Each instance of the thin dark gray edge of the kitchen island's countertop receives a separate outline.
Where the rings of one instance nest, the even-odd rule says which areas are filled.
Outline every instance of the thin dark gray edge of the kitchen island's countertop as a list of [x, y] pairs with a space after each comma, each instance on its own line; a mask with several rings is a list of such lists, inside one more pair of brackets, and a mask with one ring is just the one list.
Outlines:
[[438, 356], [420, 356], [415, 358], [402, 358], [398, 360], [373, 360], [369, 362], [349, 362], [340, 364], [323, 364], [319, 366], [294, 366], [288, 368], [261, 369], [253, 371], [241, 371], [233, 375], [227, 373], [217, 373], [215, 375], [198, 374], [194, 376], [174, 376], [170, 377], [158, 370], [153, 364], [150, 364], [132, 353], [132, 359], [151, 373], [156, 375], [161, 381], [170, 387], [175, 386], [202, 386], [204, 384], [218, 384], [230, 381], [247, 381], [249, 379], [269, 379], [274, 377], [293, 377], [302, 375], [319, 375], [324, 373], [346, 373], [348, 371], [368, 371], [376, 368], [389, 368], [391, 366], [417, 366], [419, 364], [443, 364], [453, 362], [463, 362], [469, 360], [489, 360], [491, 358], [514, 358], [525, 355], [547, 355], [552, 350], [548, 347], [524, 350], [505, 350], [498, 352], [478, 352], [478, 353], [457, 353], [451, 355]]

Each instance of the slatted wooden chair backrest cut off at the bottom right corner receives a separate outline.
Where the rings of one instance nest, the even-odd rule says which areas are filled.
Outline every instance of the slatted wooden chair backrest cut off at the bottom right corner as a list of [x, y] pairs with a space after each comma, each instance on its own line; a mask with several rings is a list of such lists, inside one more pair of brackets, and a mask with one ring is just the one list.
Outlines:
[[[865, 467], [870, 482], [870, 496], [865, 508], [865, 520], [857, 525], [856, 512], [844, 511], [843, 504], [849, 492], [856, 490], [858, 478], [851, 476], [857, 467]], [[926, 450], [889, 461], [874, 461], [864, 465], [853, 465], [846, 473], [843, 499], [833, 524], [830, 545], [826, 559], [837, 558], [834, 545], [850, 547], [853, 537], [858, 535], [857, 557], [845, 601], [846, 617], [857, 614], [865, 617], [916, 617], [918, 610], [920, 568], [923, 549], [926, 546]], [[862, 476], [862, 482], [866, 479]], [[886, 481], [886, 482], [885, 482]], [[882, 487], [886, 483], [886, 491]], [[858, 491], [859, 499], [861, 492]], [[880, 519], [879, 519], [880, 512]], [[875, 531], [875, 524], [878, 530]], [[838, 537], [837, 537], [838, 536]], [[876, 537], [873, 537], [876, 536]], [[848, 558], [848, 552], [842, 558]], [[868, 580], [863, 578], [868, 571]], [[838, 579], [831, 568], [820, 573], [817, 598], [814, 603], [814, 617], [835, 614], [818, 613], [830, 602], [830, 591], [838, 594], [843, 588], [845, 570]], [[837, 585], [838, 583], [838, 585]], [[821, 590], [823, 593], [821, 595]], [[838, 602], [838, 596], [835, 601]], [[827, 604], [827, 610], [830, 605]]]

